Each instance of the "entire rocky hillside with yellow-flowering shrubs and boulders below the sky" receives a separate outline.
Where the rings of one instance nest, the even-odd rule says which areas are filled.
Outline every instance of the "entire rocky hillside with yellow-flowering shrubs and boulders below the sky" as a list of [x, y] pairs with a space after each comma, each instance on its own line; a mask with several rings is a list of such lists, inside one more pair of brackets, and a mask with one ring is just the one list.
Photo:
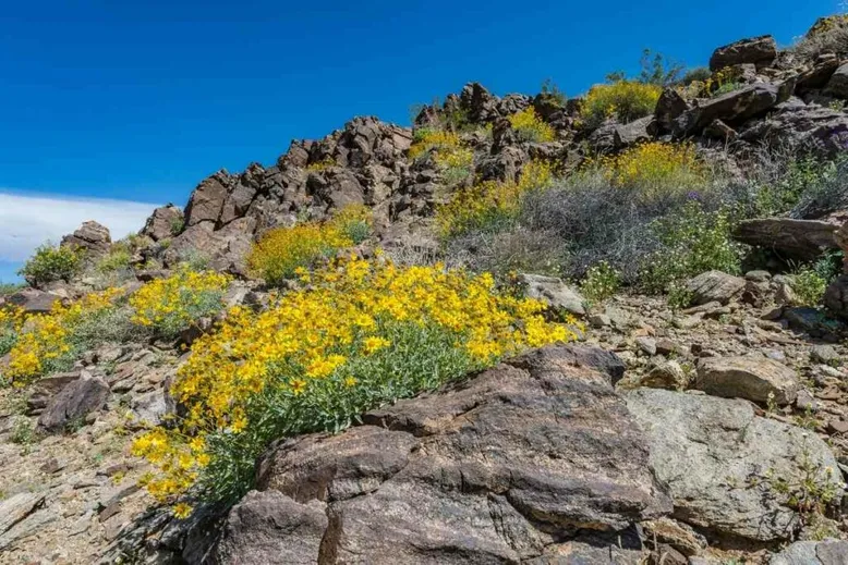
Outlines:
[[39, 249], [0, 563], [848, 561], [848, 17], [658, 74], [469, 84]]

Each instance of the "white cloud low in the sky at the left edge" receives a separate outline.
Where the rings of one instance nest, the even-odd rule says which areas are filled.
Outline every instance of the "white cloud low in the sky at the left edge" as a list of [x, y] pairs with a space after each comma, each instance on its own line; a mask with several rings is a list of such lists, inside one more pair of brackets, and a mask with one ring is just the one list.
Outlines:
[[154, 208], [129, 200], [0, 192], [0, 261], [23, 261], [43, 243], [59, 243], [86, 220], [106, 225], [112, 239], [119, 239], [141, 230]]

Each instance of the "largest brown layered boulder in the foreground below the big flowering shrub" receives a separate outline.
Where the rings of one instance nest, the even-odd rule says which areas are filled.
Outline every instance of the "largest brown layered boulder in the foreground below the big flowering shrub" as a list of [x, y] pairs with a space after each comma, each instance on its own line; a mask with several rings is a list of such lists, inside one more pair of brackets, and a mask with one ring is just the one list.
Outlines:
[[[218, 562], [550, 563], [579, 549], [608, 563], [616, 539], [671, 508], [608, 378], [570, 358], [540, 349], [338, 435], [282, 442]], [[643, 553], [638, 537], [621, 550]]]

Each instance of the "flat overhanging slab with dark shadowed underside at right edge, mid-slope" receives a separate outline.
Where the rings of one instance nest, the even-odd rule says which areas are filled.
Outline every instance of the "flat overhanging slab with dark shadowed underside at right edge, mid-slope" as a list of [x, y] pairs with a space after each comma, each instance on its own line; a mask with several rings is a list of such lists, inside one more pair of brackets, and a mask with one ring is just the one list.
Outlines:
[[782, 257], [811, 261], [823, 251], [838, 249], [837, 225], [821, 220], [792, 218], [762, 218], [742, 220], [734, 233], [738, 242], [773, 249]]

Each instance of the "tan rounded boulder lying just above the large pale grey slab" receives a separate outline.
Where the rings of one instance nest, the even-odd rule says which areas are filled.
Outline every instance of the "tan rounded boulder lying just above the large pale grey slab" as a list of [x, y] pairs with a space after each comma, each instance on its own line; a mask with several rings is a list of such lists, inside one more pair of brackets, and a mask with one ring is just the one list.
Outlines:
[[695, 389], [713, 396], [784, 406], [795, 402], [800, 384], [795, 371], [759, 355], [711, 357], [698, 366]]

